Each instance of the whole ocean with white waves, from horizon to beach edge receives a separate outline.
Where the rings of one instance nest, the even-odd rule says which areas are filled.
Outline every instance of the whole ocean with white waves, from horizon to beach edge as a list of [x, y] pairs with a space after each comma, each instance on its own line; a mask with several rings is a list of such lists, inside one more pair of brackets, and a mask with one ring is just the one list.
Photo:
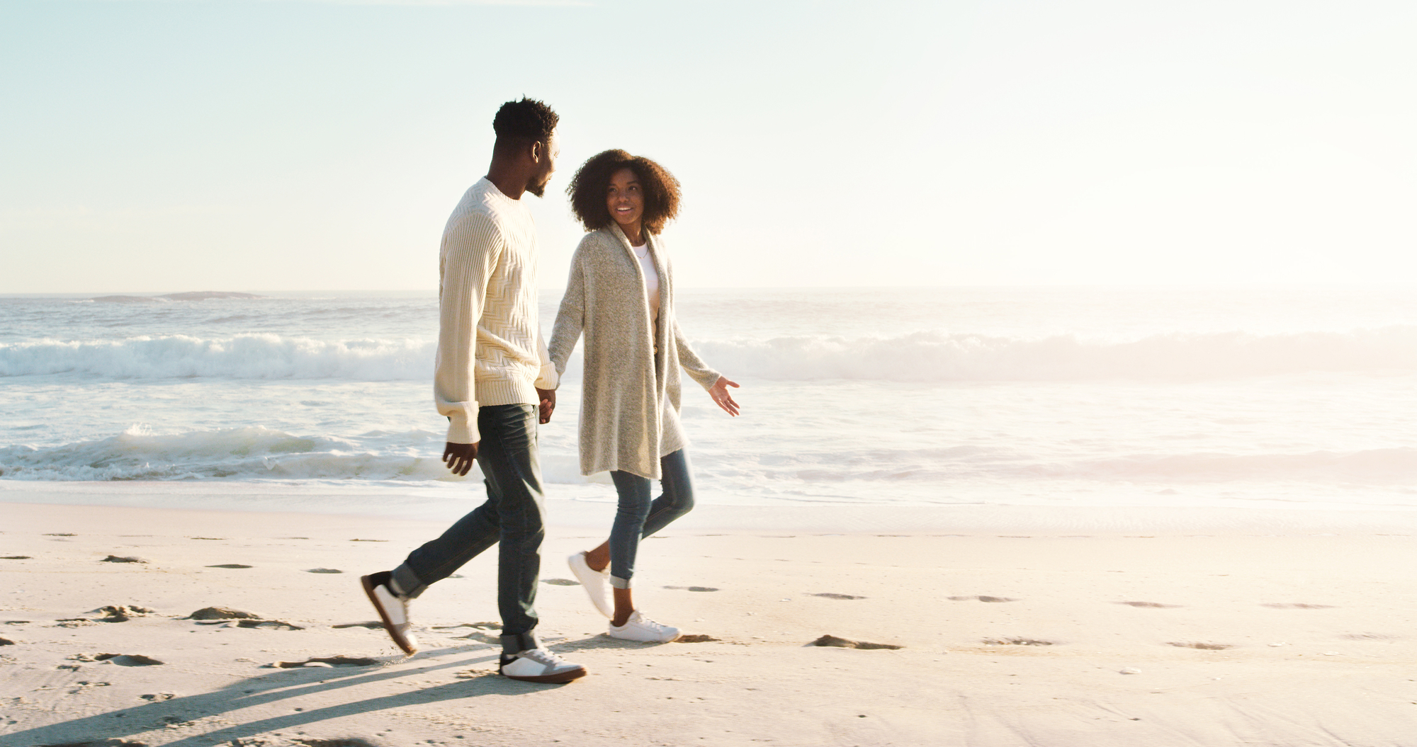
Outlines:
[[[743, 385], [730, 419], [686, 379], [704, 504], [1417, 508], [1417, 289], [680, 294]], [[438, 460], [436, 327], [432, 293], [0, 299], [0, 482], [480, 499]], [[547, 495], [612, 501], [578, 358]]]

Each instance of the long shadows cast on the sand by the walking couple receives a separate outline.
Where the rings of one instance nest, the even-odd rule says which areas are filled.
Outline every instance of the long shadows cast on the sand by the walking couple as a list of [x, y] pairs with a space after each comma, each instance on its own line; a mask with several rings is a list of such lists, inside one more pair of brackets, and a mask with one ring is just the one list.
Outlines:
[[[551, 648], [563, 651], [565, 645], [563, 644]], [[449, 648], [429, 649], [422, 652], [421, 658], [429, 656], [429, 659], [432, 659], [432, 656], [436, 656], [439, 654], [446, 655], [446, 654], [468, 652], [468, 649], [469, 647], [449, 647]], [[86, 741], [102, 743], [103, 740], [109, 739], [135, 737], [143, 731], [152, 731], [154, 729], [163, 729], [170, 724], [180, 724], [208, 716], [220, 716], [224, 713], [231, 713], [248, 707], [268, 706], [272, 703], [278, 703], [281, 700], [298, 699], [313, 693], [327, 693], [329, 690], [334, 690], [339, 688], [371, 685], [377, 682], [398, 679], [401, 676], [422, 678], [429, 672], [435, 672], [439, 669], [472, 666], [497, 659], [499, 651], [495, 647], [479, 645], [476, 647], [476, 649], [479, 649], [480, 652], [490, 652], [490, 654], [473, 658], [459, 658], [458, 661], [448, 661], [448, 662], [429, 661], [429, 664], [424, 666], [390, 666], [385, 664], [384, 666], [374, 671], [370, 671], [370, 668], [367, 666], [360, 666], [357, 669], [354, 668], [272, 669], [266, 673], [254, 678], [237, 681], [215, 692], [191, 695], [186, 697], [173, 697], [171, 700], [160, 700], [129, 709], [112, 710], [95, 716], [85, 716], [82, 719], [74, 719], [68, 722], [40, 726], [35, 729], [27, 729], [24, 731], [0, 734], [0, 743], [33, 744], [33, 746], [75, 744], [75, 736], [79, 734], [82, 734], [82, 740], [79, 741], [79, 744]], [[397, 662], [400, 659], [393, 659], [393, 661]], [[436, 703], [441, 700], [465, 700], [468, 697], [479, 697], [483, 695], [526, 695], [547, 688], [564, 686], [564, 685], [537, 685], [530, 682], [519, 682], [514, 679], [497, 676], [493, 672], [495, 671], [489, 669], [486, 675], [472, 676], [469, 679], [459, 679], [458, 682], [449, 682], [446, 685], [438, 685], [434, 688], [401, 692], [398, 695], [368, 697], [364, 700], [340, 703], [337, 706], [327, 706], [310, 710], [296, 710], [292, 713], [286, 713], [283, 716], [248, 720], [245, 723], [239, 723], [225, 729], [204, 731], [201, 734], [193, 734], [186, 739], [180, 739], [177, 741], [169, 741], [166, 744], [167, 747], [180, 747], [180, 746], [191, 747], [196, 744], [210, 746], [213, 743], [222, 743], [242, 737], [252, 737], [272, 730], [309, 726], [330, 719], [340, 719], [343, 716], [354, 716], [376, 710]], [[364, 737], [367, 734], [346, 734], [346, 736]]]

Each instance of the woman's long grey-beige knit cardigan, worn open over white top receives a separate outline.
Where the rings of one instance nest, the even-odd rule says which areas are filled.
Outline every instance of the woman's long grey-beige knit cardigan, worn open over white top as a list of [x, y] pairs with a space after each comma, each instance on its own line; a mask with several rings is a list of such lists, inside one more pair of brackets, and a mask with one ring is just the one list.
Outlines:
[[[581, 474], [621, 470], [659, 480], [659, 457], [684, 446], [679, 368], [704, 389], [718, 381], [674, 318], [674, 280], [657, 236], [645, 232], [659, 273], [659, 338], [645, 272], [618, 225], [592, 231], [571, 256], [571, 276], [551, 331], [558, 374], [585, 334], [581, 383]], [[655, 354], [656, 348], [659, 355]]]

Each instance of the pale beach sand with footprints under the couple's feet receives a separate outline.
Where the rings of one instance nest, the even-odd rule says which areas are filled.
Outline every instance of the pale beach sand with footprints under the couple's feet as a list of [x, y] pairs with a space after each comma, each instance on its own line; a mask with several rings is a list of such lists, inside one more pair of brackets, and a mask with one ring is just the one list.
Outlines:
[[[937, 515], [680, 522], [642, 548], [636, 596], [699, 638], [657, 645], [602, 635], [563, 562], [601, 535], [553, 528], [540, 632], [591, 675], [547, 686], [496, 675], [495, 553], [415, 603], [415, 656], [336, 627], [373, 617], [361, 573], [444, 522], [3, 504], [0, 746], [1417, 746], [1410, 522]], [[94, 621], [105, 606], [152, 613]], [[186, 618], [213, 606], [285, 624]], [[266, 666], [336, 656], [354, 661]]]

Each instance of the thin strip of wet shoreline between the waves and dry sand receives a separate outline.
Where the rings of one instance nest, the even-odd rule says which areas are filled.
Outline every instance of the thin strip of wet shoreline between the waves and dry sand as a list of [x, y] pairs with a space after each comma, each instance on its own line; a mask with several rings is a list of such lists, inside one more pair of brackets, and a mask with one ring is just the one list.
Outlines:
[[[462, 485], [461, 485], [462, 487]], [[606, 531], [614, 492], [547, 498], [548, 529]], [[561, 492], [561, 491], [554, 491]], [[595, 495], [587, 498], [585, 495]], [[200, 481], [40, 482], [0, 480], [0, 512], [16, 505], [89, 505], [232, 514], [360, 516], [446, 525], [476, 508], [480, 485], [456, 494], [411, 485], [300, 485]], [[200, 504], [200, 505], [196, 505]], [[666, 532], [795, 531], [830, 533], [952, 532], [1253, 532], [1253, 533], [1417, 533], [1417, 508], [1369, 506], [1186, 506], [1037, 504], [829, 504], [779, 505], [699, 502]]]

